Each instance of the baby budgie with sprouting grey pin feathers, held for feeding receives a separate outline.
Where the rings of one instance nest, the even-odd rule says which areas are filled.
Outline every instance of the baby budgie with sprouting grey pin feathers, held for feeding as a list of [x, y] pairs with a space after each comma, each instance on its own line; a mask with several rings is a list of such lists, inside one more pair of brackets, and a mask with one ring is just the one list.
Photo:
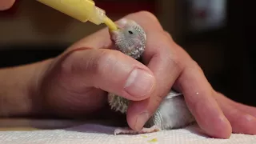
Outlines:
[[[114, 42], [115, 49], [134, 59], [141, 58], [146, 49], [146, 32], [142, 26], [130, 19], [122, 19], [116, 24], [118, 30], [110, 30], [110, 38]], [[126, 114], [130, 101], [109, 93], [108, 102], [112, 110]], [[181, 128], [192, 122], [195, 122], [195, 119], [186, 106], [183, 95], [170, 89], [170, 93], [162, 100], [158, 110], [146, 122], [142, 130], [135, 131], [129, 127], [120, 127], [114, 130], [114, 134], [145, 134]]]

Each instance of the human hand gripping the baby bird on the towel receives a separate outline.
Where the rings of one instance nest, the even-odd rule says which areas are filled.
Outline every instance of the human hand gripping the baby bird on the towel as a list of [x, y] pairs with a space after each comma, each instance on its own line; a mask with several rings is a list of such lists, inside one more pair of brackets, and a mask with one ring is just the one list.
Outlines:
[[[8, 3], [2, 1], [5, 2]], [[9, 2], [6, 7], [14, 1]], [[107, 29], [91, 34], [40, 69], [38, 79], [35, 78], [36, 90], [48, 110], [63, 116], [91, 114], [104, 106], [105, 91], [109, 91], [134, 101], [129, 106], [127, 121], [132, 129], [139, 130], [147, 118], [138, 116], [145, 111], [149, 116], [153, 114], [174, 86], [184, 94], [191, 113], [206, 134], [216, 138], [228, 138], [231, 131], [256, 134], [256, 108], [233, 102], [213, 90], [198, 64], [162, 30], [154, 15], [141, 12], [126, 18], [146, 30], [148, 40], [143, 56], [146, 66], [108, 50], [112, 43]], [[153, 82], [151, 89], [147, 85], [148, 90], [145, 87], [140, 91], [135, 83], [134, 89], [124, 88], [135, 68], [146, 74], [145, 83]]]

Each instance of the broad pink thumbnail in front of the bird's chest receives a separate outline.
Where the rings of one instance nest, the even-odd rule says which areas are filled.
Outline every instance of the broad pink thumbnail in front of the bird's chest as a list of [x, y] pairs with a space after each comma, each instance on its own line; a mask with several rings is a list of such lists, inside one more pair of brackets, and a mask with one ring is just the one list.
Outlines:
[[154, 86], [154, 77], [145, 70], [135, 69], [130, 73], [126, 81], [125, 90], [135, 97], [143, 97], [150, 94]]

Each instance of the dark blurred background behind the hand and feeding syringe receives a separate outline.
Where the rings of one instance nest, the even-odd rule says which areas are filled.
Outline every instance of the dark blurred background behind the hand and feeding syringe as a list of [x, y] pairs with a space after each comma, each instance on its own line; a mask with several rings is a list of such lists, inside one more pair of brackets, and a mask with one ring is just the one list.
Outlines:
[[[117, 20], [140, 10], [154, 13], [165, 30], [202, 67], [215, 90], [237, 102], [254, 101], [254, 5], [238, 0], [95, 0]], [[0, 12], [0, 66], [18, 66], [61, 54], [102, 26], [82, 23], [34, 0]]]

